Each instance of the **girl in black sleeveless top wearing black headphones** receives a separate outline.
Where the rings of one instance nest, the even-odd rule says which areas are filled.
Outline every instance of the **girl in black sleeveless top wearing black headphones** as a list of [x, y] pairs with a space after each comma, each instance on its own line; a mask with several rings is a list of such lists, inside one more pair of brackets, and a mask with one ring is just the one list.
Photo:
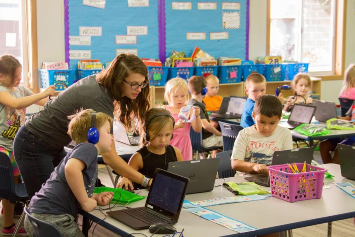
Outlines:
[[[144, 119], [145, 133], [141, 137], [142, 148], [134, 153], [128, 164], [144, 176], [152, 178], [156, 168], [168, 169], [169, 162], [182, 161], [178, 148], [170, 146], [173, 139], [174, 117], [163, 108], [153, 108], [147, 111]], [[128, 177], [127, 177], [128, 178]], [[118, 188], [127, 186], [129, 179], [121, 178]], [[144, 188], [135, 185], [135, 188]]]

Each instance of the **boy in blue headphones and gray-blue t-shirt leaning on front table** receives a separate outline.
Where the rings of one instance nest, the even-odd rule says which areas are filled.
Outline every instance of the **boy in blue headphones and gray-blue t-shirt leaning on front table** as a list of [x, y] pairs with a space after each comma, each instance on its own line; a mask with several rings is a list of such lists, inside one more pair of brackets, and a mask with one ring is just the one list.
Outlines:
[[[76, 218], [79, 208], [92, 211], [97, 204], [109, 204], [113, 193], [94, 193], [97, 180], [97, 155], [113, 145], [112, 118], [91, 109], [69, 116], [68, 134], [76, 143], [29, 204], [34, 217], [53, 224], [62, 236], [84, 236]], [[33, 235], [27, 216], [25, 229]]]

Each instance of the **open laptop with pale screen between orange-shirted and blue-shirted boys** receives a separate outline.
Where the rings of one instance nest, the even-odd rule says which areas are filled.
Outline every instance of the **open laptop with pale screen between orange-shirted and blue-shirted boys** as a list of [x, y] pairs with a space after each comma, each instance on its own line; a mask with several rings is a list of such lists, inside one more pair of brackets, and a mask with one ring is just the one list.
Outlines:
[[211, 114], [210, 116], [222, 119], [240, 118], [247, 98], [241, 96], [230, 96], [227, 111], [225, 114]]

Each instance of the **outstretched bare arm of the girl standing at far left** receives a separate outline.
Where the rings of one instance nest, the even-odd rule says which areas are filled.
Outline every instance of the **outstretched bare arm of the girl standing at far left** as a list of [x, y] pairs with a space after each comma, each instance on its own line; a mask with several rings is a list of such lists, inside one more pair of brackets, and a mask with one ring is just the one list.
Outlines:
[[54, 88], [55, 88], [54, 85], [51, 85], [42, 93], [33, 94], [21, 98], [15, 98], [9, 92], [1, 91], [0, 103], [9, 106], [12, 109], [17, 109], [17, 110], [23, 109], [50, 95], [54, 95]]

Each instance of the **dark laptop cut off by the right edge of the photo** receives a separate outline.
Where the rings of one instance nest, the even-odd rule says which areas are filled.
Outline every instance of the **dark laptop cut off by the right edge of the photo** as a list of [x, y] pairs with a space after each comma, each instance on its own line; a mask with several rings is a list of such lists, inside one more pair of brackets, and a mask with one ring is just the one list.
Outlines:
[[338, 144], [338, 152], [342, 176], [355, 180], [355, 147]]

